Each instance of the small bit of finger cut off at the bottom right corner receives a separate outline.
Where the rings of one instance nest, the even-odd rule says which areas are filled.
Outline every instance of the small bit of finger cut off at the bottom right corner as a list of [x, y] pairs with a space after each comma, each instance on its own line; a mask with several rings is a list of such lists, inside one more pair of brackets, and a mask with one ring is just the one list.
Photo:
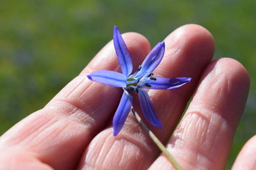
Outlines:
[[255, 169], [256, 167], [256, 136], [253, 136], [246, 144], [243, 146], [241, 152], [236, 158], [232, 170], [236, 169]]

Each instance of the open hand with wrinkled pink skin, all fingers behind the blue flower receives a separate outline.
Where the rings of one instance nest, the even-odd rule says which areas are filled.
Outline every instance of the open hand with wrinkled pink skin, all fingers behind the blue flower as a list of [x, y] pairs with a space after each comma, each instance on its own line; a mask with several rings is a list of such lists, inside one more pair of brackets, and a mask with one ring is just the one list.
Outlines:
[[[122, 36], [135, 71], [150, 52], [150, 44], [135, 32]], [[163, 129], [148, 126], [168, 143], [168, 150], [184, 169], [223, 169], [248, 96], [248, 73], [234, 59], [212, 60], [214, 39], [200, 25], [179, 27], [164, 42], [166, 51], [154, 74], [193, 80], [179, 89], [149, 90]], [[100, 69], [120, 72], [113, 41], [42, 110], [1, 136], [0, 168], [172, 169], [132, 113], [113, 136], [112, 118], [122, 89], [88, 80], [86, 74]], [[138, 99], [134, 104], [140, 113]], [[248, 141], [233, 169], [255, 167], [255, 143], [255, 137]]]

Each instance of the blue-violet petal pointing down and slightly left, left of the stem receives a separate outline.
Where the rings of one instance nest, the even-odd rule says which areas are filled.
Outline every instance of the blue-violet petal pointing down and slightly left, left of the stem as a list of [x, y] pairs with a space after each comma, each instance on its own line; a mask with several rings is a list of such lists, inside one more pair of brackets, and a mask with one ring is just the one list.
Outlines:
[[124, 126], [124, 122], [132, 108], [132, 95], [124, 90], [118, 108], [113, 118], [113, 135], [116, 136]]

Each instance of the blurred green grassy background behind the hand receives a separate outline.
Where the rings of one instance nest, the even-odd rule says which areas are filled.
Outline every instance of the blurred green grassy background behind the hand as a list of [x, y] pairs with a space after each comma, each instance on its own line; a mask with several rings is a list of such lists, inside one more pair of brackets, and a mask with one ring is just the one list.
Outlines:
[[155, 45], [180, 25], [195, 23], [213, 34], [214, 58], [239, 60], [251, 77], [229, 169], [256, 132], [255, 6], [255, 0], [1, 0], [0, 134], [42, 108], [72, 80], [112, 38], [113, 25], [122, 32], [140, 32]]

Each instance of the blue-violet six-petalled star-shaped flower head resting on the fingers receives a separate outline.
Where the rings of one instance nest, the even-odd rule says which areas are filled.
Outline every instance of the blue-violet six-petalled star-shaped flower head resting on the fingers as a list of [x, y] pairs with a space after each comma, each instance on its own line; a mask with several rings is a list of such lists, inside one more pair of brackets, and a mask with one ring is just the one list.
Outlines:
[[133, 99], [131, 92], [138, 94], [141, 110], [147, 121], [161, 129], [162, 123], [156, 115], [148, 93], [143, 89], [175, 89], [191, 81], [191, 78], [159, 78], [152, 76], [152, 71], [163, 59], [164, 42], [157, 43], [151, 52], [148, 53], [141, 66], [138, 67], [138, 70], [131, 74], [131, 56], [116, 26], [113, 31], [113, 41], [122, 73], [100, 70], [87, 75], [92, 81], [124, 89], [123, 96], [113, 118], [113, 135], [116, 136], [120, 132], [129, 111], [131, 111]]

